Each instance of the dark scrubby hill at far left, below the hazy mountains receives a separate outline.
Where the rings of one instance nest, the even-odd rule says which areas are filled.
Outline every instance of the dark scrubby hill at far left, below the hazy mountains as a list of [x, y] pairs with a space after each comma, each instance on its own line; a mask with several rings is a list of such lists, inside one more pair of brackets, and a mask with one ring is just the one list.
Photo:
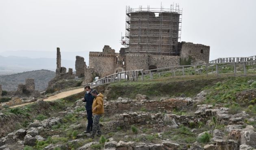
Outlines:
[[45, 90], [48, 81], [55, 77], [55, 72], [49, 70], [27, 71], [23, 73], [2, 75], [0, 76], [0, 84], [3, 90], [15, 91], [18, 84], [25, 84], [26, 78], [35, 79], [35, 90]]

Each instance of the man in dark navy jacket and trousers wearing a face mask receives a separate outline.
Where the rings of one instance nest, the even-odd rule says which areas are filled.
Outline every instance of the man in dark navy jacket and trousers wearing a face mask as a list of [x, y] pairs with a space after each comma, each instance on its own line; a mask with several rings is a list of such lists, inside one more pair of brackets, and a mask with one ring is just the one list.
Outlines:
[[93, 127], [93, 119], [92, 119], [92, 104], [93, 104], [93, 99], [94, 96], [91, 95], [91, 91], [93, 89], [91, 89], [90, 86], [85, 86], [85, 98], [82, 99], [83, 102], [86, 102], [85, 104], [85, 109], [87, 111], [87, 120], [88, 120], [88, 124], [87, 124], [87, 129], [85, 133], [90, 133], [92, 131], [92, 127]]

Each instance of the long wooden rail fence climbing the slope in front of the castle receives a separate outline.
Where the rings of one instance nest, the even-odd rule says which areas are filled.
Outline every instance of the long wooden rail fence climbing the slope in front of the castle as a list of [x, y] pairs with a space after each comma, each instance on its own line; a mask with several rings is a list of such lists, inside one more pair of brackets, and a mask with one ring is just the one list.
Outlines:
[[[161, 77], [162, 74], [170, 73], [171, 76], [182, 76], [188, 75], [189, 73], [192, 73], [191, 75], [203, 75], [205, 74], [208, 76], [209, 74], [219, 76], [220, 74], [224, 73], [225, 68], [231, 68], [229, 70], [229, 73], [232, 71], [234, 72], [234, 76], [236, 77], [238, 75], [237, 69], [243, 71], [239, 71], [239, 74], [241, 75], [247, 75], [247, 69], [246, 66], [256, 66], [256, 60], [250, 60], [250, 61], [244, 61], [244, 62], [221, 62], [221, 63], [215, 63], [215, 64], [195, 64], [195, 65], [184, 65], [184, 66], [169, 66], [165, 68], [158, 68], [158, 69], [151, 69], [151, 70], [131, 70], [131, 71], [122, 71], [119, 73], [114, 73], [112, 75], [108, 75], [106, 77], [103, 77], [99, 79], [98, 81], [94, 81], [91, 83], [84, 84], [84, 86], [89, 85], [92, 88], [95, 86], [99, 86], [102, 84], [108, 84], [113, 83], [117, 81], [144, 81], [145, 77], [147, 79], [154, 79], [153, 76], [159, 76]], [[193, 74], [194, 73], [194, 74]], [[256, 73], [256, 72], [254, 72]]]

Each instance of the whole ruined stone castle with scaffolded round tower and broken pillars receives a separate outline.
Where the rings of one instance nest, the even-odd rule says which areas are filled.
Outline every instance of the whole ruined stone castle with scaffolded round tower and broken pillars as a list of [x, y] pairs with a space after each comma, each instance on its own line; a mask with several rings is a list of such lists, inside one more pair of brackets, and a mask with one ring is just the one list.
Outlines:
[[[76, 56], [76, 76], [85, 77], [85, 83], [94, 77], [113, 73], [157, 69], [167, 66], [202, 64], [209, 62], [210, 46], [181, 42], [182, 10], [178, 5], [169, 9], [132, 9], [126, 7], [126, 33], [121, 39], [124, 46], [115, 52], [105, 45], [102, 52], [89, 52], [89, 66], [84, 58]], [[61, 54], [57, 48], [56, 76], [71, 74], [61, 67]], [[65, 77], [64, 77], [65, 78]]]

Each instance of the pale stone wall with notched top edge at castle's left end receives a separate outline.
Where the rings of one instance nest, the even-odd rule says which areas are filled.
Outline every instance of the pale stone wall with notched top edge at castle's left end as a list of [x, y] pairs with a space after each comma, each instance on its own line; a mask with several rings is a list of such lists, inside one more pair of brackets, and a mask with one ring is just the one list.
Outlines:
[[117, 56], [119, 54], [104, 54], [103, 52], [89, 53], [89, 68], [94, 68], [100, 77], [105, 77], [114, 73], [117, 66]]

